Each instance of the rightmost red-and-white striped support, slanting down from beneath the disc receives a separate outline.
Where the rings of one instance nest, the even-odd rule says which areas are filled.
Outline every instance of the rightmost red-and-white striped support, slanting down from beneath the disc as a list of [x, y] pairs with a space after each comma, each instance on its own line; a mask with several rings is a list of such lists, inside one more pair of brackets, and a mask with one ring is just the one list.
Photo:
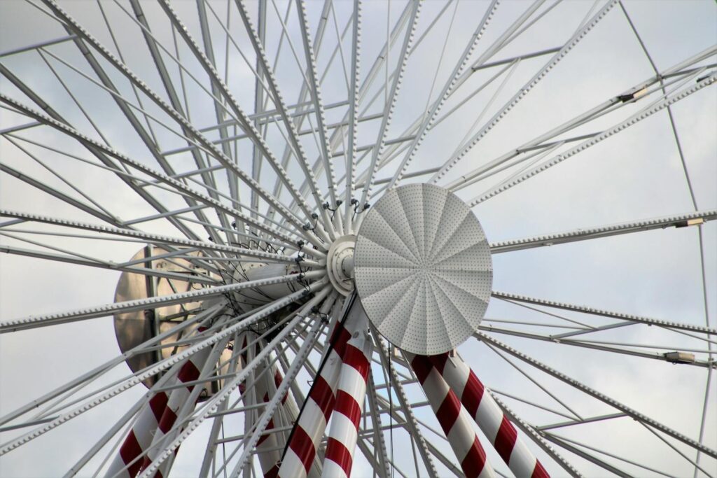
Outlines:
[[447, 353], [431, 355], [428, 359], [455, 392], [468, 414], [473, 416], [475, 423], [516, 478], [549, 478], [541, 462], [518, 437], [516, 427], [463, 360]]

